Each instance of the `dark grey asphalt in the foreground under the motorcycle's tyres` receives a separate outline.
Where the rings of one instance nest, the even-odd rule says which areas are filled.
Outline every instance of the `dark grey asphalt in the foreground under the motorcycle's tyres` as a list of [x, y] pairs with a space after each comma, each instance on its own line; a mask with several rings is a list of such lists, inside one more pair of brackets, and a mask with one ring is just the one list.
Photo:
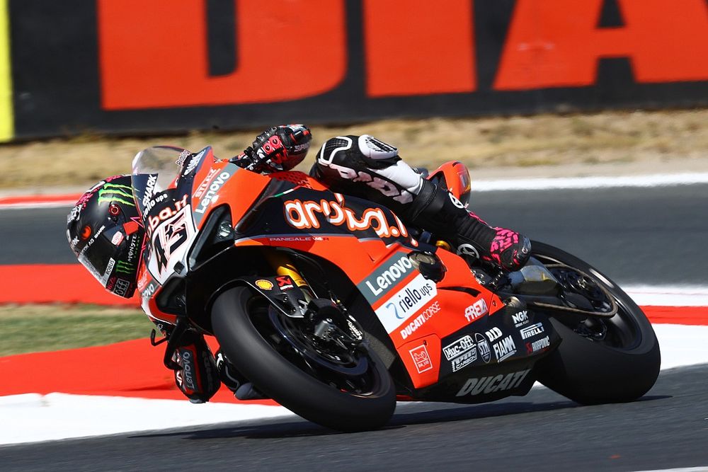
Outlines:
[[408, 403], [382, 430], [299, 418], [0, 447], [3, 471], [649, 470], [708, 466], [708, 364], [661, 372], [633, 403], [547, 388], [482, 405]]

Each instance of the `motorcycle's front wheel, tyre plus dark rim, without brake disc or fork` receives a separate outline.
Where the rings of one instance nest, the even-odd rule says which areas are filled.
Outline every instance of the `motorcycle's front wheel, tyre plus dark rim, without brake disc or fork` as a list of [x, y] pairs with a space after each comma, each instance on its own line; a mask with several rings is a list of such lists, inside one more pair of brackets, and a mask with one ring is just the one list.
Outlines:
[[391, 418], [396, 392], [375, 352], [329, 350], [269, 307], [251, 289], [236, 287], [212, 308], [222, 350], [259, 390], [333, 430], [372, 430]]

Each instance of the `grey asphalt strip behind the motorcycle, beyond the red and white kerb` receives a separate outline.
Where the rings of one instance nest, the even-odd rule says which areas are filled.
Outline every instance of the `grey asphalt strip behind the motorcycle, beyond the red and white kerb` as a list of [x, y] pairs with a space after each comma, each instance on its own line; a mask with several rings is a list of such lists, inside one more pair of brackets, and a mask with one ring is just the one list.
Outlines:
[[[708, 285], [708, 184], [472, 192], [470, 209], [620, 284]], [[0, 264], [76, 263], [69, 208], [0, 209]]]

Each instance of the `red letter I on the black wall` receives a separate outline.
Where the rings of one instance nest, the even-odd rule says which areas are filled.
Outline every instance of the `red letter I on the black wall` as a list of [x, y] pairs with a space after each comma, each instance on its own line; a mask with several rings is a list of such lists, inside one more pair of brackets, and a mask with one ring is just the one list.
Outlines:
[[364, 47], [370, 97], [476, 87], [472, 0], [365, 0]]

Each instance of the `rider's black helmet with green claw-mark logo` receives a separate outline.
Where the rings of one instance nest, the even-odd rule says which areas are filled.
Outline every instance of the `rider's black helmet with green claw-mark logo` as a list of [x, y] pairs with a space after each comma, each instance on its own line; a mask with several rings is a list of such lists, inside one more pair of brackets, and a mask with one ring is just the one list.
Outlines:
[[67, 239], [79, 262], [113, 294], [130, 298], [145, 231], [130, 175], [115, 175], [81, 195], [67, 217]]

